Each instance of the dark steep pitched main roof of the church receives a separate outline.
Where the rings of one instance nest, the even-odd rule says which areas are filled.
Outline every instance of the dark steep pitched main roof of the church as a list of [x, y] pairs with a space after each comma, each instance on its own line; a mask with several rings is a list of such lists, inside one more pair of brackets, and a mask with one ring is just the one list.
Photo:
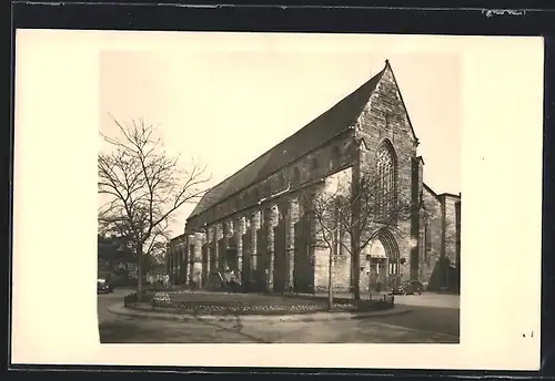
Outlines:
[[337, 134], [354, 125], [370, 100], [386, 66], [330, 110], [289, 136], [242, 169], [212, 187], [199, 202], [189, 218], [196, 216], [236, 192], [268, 177]]

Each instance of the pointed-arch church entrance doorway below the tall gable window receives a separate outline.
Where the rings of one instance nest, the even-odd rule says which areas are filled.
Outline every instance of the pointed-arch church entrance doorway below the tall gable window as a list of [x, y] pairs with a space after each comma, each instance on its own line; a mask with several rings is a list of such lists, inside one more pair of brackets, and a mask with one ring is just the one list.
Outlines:
[[[383, 230], [363, 250], [364, 274], [361, 290], [390, 290], [400, 278], [398, 246], [389, 230]], [[361, 258], [362, 259], [362, 258]]]

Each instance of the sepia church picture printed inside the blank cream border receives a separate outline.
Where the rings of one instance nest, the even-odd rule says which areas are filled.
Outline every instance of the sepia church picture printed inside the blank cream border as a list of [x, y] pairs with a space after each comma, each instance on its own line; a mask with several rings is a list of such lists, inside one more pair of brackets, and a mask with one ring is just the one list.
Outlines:
[[460, 341], [460, 58], [381, 56], [101, 52], [102, 342]]

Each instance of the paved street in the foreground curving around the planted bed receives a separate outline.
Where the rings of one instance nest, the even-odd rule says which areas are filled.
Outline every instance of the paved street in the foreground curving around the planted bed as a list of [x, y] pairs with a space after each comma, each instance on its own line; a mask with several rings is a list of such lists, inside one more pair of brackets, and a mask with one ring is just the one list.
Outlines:
[[412, 311], [359, 320], [312, 322], [181, 322], [120, 317], [107, 311], [121, 305], [129, 290], [99, 295], [99, 329], [103, 343], [193, 342], [458, 342], [458, 297], [424, 294], [400, 296]]

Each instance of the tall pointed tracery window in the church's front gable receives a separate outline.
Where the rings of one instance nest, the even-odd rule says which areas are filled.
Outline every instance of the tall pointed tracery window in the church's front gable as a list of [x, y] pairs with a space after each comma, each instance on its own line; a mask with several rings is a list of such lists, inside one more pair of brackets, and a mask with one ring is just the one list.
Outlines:
[[396, 161], [391, 143], [384, 142], [377, 150], [377, 217], [390, 220], [395, 213]]

